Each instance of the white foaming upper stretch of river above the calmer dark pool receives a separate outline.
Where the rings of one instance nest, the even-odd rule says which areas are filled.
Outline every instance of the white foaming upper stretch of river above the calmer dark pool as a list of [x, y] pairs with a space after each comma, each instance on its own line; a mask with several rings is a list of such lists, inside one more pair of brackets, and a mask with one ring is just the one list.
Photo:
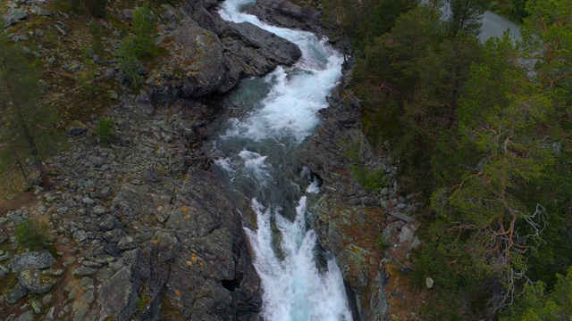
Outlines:
[[302, 58], [292, 68], [279, 66], [265, 77], [272, 88], [261, 107], [247, 119], [236, 121], [226, 136], [247, 136], [254, 140], [288, 136], [300, 143], [320, 123], [316, 112], [328, 106], [325, 96], [341, 77], [341, 54], [327, 45], [325, 39], [310, 32], [273, 27], [237, 11], [251, 3], [227, 0], [219, 13], [223, 19], [250, 22], [290, 40], [299, 45]]

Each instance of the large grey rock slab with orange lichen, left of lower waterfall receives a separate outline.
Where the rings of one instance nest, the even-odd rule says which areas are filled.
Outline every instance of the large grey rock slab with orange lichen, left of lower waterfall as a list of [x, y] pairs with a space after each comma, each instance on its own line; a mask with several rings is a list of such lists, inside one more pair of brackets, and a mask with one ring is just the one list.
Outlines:
[[242, 235], [240, 216], [223, 186], [189, 169], [167, 226], [181, 242], [166, 297], [185, 319], [257, 320], [260, 280]]

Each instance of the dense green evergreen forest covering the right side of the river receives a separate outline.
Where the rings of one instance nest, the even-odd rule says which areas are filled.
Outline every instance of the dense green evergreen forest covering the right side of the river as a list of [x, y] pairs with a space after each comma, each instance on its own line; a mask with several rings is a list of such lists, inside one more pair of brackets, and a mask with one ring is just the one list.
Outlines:
[[[439, 285], [422, 319], [570, 319], [572, 5], [323, 5], [351, 44], [370, 143], [399, 167], [401, 192], [430, 204], [411, 282]], [[486, 10], [522, 39], [480, 42]]]

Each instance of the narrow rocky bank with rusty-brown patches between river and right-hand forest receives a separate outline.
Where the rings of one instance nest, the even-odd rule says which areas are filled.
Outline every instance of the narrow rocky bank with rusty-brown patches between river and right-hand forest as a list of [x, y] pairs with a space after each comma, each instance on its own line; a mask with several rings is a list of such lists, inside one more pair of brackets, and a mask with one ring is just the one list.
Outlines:
[[[338, 261], [355, 320], [414, 319], [412, 298], [419, 293], [402, 276], [411, 271], [410, 251], [422, 245], [415, 236], [415, 212], [423, 204], [397, 193], [397, 169], [372, 152], [349, 79], [346, 70], [329, 97], [330, 107], [320, 111], [324, 124], [298, 154], [323, 182], [321, 192], [307, 202], [313, 228]], [[358, 169], [383, 173], [378, 180], [384, 184], [360, 185]]]

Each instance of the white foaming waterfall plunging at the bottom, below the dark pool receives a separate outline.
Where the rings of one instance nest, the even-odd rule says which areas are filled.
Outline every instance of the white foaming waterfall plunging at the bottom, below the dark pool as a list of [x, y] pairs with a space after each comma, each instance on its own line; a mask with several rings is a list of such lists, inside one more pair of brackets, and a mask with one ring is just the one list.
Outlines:
[[[282, 218], [277, 210], [265, 209], [257, 200], [252, 201], [252, 209], [257, 212], [258, 229], [246, 231], [256, 252], [255, 267], [264, 284], [265, 320], [351, 320], [335, 260], [328, 260], [328, 270], [324, 273], [316, 268], [316, 235], [306, 229], [306, 197], [299, 201], [294, 222]], [[268, 246], [273, 243], [272, 218], [282, 234], [283, 260]]]

